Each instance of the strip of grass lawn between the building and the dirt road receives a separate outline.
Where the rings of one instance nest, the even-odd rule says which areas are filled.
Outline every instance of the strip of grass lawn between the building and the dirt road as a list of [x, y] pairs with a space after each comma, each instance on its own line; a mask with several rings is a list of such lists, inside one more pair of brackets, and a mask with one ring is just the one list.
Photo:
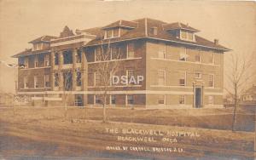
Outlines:
[[[12, 111], [12, 110], [7, 110]], [[28, 107], [16, 109], [17, 115], [30, 118], [63, 117], [64, 108]], [[9, 113], [10, 113], [9, 112]], [[233, 110], [229, 109], [186, 109], [186, 110], [137, 110], [131, 108], [107, 109], [109, 121], [125, 123], [148, 123], [180, 127], [194, 127], [204, 129], [230, 130], [232, 126]], [[68, 107], [68, 119], [102, 120], [100, 107]], [[237, 111], [236, 129], [240, 131], [254, 131], [255, 117], [251, 111]]]

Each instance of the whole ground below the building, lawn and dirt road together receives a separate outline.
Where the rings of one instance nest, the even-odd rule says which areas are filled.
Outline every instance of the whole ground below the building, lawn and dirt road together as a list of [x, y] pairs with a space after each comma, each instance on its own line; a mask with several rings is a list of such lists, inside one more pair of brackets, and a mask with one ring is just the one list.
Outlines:
[[[110, 123], [101, 123], [102, 108], [30, 107], [0, 109], [0, 157], [116, 157], [156, 159], [253, 159], [253, 132], [249, 130], [253, 115], [239, 111], [237, 128], [231, 132], [231, 109], [208, 110], [136, 110], [108, 109]], [[118, 123], [114, 123], [118, 122]], [[155, 125], [158, 124], [158, 125]], [[119, 141], [120, 134], [106, 133], [106, 129], [157, 129], [163, 132], [196, 132], [200, 137], [177, 137], [177, 143], [160, 141]], [[126, 134], [125, 134], [126, 135]], [[129, 136], [129, 135], [128, 135]], [[168, 138], [168, 137], [167, 137]], [[169, 137], [172, 138], [172, 137]], [[158, 140], [159, 139], [159, 140]], [[107, 151], [107, 146], [177, 147], [183, 152]], [[15, 157], [16, 155], [16, 157]], [[8, 158], [9, 157], [9, 158]], [[19, 158], [17, 158], [19, 159]]]

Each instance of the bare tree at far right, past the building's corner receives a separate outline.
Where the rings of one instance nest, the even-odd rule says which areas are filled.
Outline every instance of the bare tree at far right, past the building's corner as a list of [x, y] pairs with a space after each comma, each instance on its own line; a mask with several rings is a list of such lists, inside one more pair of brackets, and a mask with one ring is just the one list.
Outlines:
[[247, 89], [247, 84], [250, 79], [253, 79], [255, 72], [252, 72], [253, 54], [249, 57], [238, 54], [231, 54], [230, 68], [227, 74], [229, 87], [224, 89], [230, 94], [231, 100], [234, 103], [233, 118], [232, 118], [232, 131], [236, 130], [236, 111], [241, 102], [241, 96]]

